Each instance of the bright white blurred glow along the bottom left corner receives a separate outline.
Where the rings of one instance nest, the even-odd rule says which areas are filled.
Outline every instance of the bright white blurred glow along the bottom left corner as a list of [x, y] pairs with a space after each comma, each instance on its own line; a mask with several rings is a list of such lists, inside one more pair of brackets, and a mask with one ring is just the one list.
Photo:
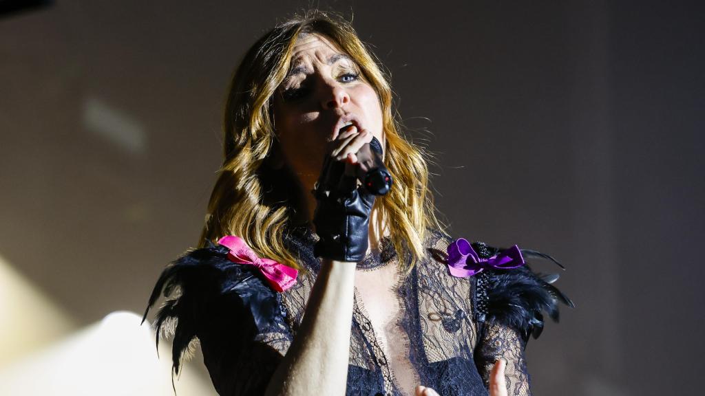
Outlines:
[[[173, 396], [171, 351], [132, 312], [114, 312], [41, 353], [0, 371], [0, 395]], [[176, 395], [216, 395], [186, 367]]]

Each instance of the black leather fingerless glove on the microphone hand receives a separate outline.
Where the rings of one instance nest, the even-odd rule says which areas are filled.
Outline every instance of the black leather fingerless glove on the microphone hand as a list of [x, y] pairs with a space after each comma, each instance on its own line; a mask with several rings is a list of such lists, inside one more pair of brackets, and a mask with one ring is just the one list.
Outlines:
[[327, 156], [313, 190], [318, 202], [313, 223], [320, 237], [314, 255], [357, 263], [367, 254], [374, 195], [363, 185], [357, 187], [357, 178], [344, 171], [345, 163]]

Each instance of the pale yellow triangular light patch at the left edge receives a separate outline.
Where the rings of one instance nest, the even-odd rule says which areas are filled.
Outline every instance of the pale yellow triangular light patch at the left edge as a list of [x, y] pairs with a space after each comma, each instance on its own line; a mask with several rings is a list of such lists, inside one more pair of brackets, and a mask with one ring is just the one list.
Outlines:
[[[77, 327], [61, 307], [0, 256], [0, 369]], [[0, 395], [8, 393], [0, 392]]]

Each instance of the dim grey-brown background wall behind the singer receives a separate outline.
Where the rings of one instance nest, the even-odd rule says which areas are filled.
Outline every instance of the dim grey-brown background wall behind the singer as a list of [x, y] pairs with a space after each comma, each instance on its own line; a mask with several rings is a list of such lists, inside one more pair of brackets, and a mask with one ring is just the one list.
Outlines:
[[[80, 324], [141, 312], [195, 244], [243, 51], [305, 1], [57, 1], [0, 19], [0, 254]], [[698, 2], [331, 1], [436, 153], [452, 234], [549, 252], [577, 309], [537, 395], [696, 394]], [[539, 271], [554, 271], [545, 264]]]

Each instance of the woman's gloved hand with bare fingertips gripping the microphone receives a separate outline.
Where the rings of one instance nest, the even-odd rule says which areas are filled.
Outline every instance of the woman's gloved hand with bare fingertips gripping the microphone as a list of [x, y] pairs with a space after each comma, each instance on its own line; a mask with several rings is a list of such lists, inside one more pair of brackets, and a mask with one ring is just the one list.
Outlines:
[[[320, 240], [314, 255], [336, 261], [359, 262], [369, 245], [369, 214], [374, 195], [357, 187], [360, 149], [372, 141], [372, 132], [354, 125], [329, 142], [321, 175], [313, 194], [317, 199], [313, 223]], [[362, 162], [360, 162], [362, 166]]]

